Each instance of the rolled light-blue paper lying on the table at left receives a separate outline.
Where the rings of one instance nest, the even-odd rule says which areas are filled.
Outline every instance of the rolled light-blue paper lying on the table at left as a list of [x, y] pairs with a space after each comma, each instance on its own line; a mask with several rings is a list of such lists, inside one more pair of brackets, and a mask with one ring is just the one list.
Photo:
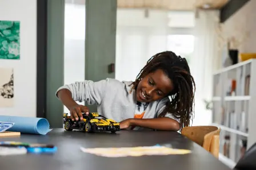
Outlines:
[[15, 123], [8, 131], [21, 132], [23, 134], [46, 135], [47, 132], [51, 131], [50, 124], [45, 118], [0, 115], [0, 122]]

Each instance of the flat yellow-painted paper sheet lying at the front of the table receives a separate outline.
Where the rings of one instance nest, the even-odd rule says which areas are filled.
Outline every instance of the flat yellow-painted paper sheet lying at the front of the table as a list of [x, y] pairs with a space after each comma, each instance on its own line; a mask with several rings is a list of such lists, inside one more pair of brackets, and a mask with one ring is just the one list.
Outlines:
[[149, 147], [121, 147], [121, 148], [83, 148], [83, 152], [105, 157], [125, 157], [143, 155], [183, 155], [190, 154], [190, 150], [180, 150], [165, 146]]

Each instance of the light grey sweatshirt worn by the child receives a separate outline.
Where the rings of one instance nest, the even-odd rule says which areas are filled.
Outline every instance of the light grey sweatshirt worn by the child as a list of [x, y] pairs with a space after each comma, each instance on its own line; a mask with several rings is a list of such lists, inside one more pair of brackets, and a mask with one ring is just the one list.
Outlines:
[[[121, 82], [113, 78], [106, 78], [106, 80], [97, 82], [90, 80], [75, 82], [61, 86], [58, 90], [69, 89], [74, 101], [86, 101], [88, 105], [96, 103], [99, 114], [117, 122], [134, 118], [135, 114], [141, 113], [144, 113], [143, 119], [157, 118], [165, 108], [165, 103], [169, 100], [169, 97], [147, 103], [147, 105], [145, 103], [138, 104], [135, 90], [130, 92], [130, 84], [131, 81]], [[166, 117], [173, 118], [179, 122], [171, 113], [166, 114]]]

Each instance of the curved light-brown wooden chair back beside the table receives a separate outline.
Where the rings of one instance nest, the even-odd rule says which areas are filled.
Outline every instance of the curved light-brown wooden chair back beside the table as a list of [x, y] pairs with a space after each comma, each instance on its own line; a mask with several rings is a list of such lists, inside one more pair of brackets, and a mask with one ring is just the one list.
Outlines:
[[184, 127], [181, 134], [218, 158], [220, 131], [221, 129], [216, 126], [191, 126]]

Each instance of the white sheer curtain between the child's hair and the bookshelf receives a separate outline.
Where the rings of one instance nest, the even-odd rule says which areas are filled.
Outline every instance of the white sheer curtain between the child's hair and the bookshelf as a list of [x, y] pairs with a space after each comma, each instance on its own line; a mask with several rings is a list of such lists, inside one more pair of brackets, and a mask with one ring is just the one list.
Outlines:
[[206, 110], [203, 100], [212, 98], [213, 72], [218, 65], [218, 10], [199, 10], [194, 27], [194, 54], [190, 71], [195, 81], [195, 118], [193, 126], [210, 125], [211, 111]]

